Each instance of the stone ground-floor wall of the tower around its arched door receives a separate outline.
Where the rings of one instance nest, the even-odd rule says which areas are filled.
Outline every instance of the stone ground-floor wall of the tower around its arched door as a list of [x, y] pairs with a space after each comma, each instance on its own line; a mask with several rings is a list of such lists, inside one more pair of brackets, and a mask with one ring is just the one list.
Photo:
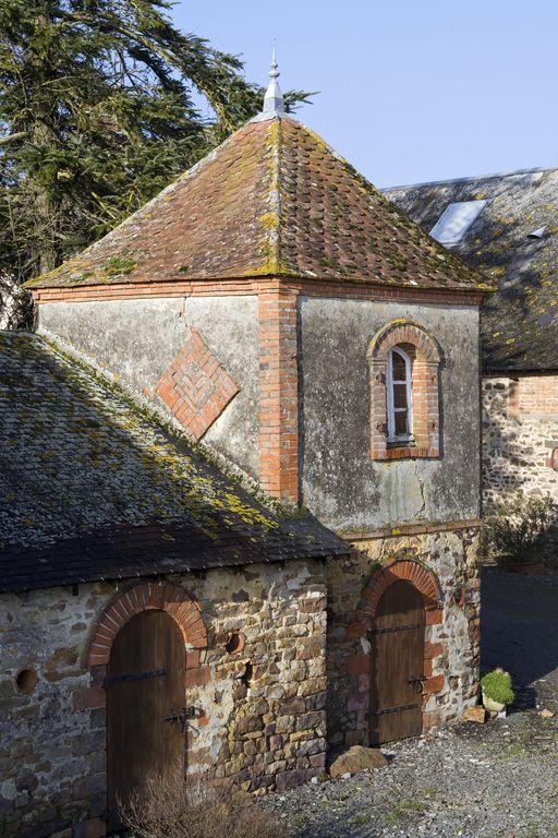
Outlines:
[[367, 632], [373, 622], [365, 592], [385, 567], [397, 571], [393, 563], [414, 564], [436, 579], [437, 601], [426, 610], [423, 729], [458, 719], [476, 703], [477, 540], [476, 529], [421, 534], [409, 527], [405, 535], [359, 540], [350, 558], [329, 565], [328, 730], [336, 750], [368, 744], [373, 661]]

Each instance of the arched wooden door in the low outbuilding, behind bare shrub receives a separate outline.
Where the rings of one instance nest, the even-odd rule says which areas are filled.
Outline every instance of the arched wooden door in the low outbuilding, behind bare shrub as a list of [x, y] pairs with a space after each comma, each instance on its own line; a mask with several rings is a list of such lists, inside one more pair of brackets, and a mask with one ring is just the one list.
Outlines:
[[183, 768], [185, 737], [165, 721], [184, 705], [184, 639], [165, 611], [131, 618], [112, 645], [107, 673], [108, 828], [121, 827], [118, 801], [150, 775]]

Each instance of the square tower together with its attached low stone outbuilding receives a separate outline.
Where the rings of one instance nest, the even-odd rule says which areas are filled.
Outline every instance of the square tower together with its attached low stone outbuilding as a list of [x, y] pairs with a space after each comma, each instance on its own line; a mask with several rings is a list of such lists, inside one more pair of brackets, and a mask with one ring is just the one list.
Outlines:
[[104, 835], [161, 730], [262, 792], [476, 701], [484, 286], [275, 76], [2, 337], [8, 835]]

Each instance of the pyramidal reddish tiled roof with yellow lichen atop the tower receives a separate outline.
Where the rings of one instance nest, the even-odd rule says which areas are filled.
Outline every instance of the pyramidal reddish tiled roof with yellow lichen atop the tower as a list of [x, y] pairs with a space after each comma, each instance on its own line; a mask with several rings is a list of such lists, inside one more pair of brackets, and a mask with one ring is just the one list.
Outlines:
[[252, 121], [29, 287], [284, 275], [423, 288], [488, 282], [290, 118]]

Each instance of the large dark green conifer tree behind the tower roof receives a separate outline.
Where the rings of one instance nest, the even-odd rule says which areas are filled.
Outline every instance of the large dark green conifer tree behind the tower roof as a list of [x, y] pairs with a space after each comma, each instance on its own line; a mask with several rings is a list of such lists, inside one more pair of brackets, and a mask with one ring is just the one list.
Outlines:
[[242, 62], [179, 32], [169, 8], [0, 3], [0, 271], [51, 270], [259, 110]]

